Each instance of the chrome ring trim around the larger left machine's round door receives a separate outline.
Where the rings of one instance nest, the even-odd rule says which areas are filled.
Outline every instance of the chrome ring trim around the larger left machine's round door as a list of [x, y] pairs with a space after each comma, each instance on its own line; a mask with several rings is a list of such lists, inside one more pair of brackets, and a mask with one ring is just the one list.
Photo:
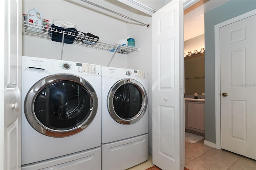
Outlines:
[[[55, 130], [42, 125], [42, 123], [40, 123], [40, 121], [38, 121], [38, 119], [36, 118], [34, 112], [34, 103], [37, 95], [39, 95], [39, 92], [47, 85], [58, 81], [73, 81], [75, 83], [78, 83], [79, 85], [82, 85], [84, 88], [86, 88], [91, 96], [90, 115], [79, 126], [71, 128], [69, 130]], [[30, 88], [24, 100], [24, 113], [26, 119], [28, 120], [28, 123], [30, 123], [30, 125], [38, 132], [51, 137], [67, 137], [84, 130], [93, 121], [94, 117], [96, 116], [97, 110], [98, 97], [92, 85], [90, 85], [90, 83], [88, 83], [85, 79], [71, 74], [54, 74], [40, 79]]]

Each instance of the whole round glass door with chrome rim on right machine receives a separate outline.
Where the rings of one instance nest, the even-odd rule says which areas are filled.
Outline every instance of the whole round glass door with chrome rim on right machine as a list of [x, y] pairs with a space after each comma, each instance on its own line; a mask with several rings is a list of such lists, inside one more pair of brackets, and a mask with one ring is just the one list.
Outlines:
[[142, 84], [134, 79], [116, 82], [108, 93], [108, 111], [121, 124], [139, 121], [147, 108], [147, 94]]

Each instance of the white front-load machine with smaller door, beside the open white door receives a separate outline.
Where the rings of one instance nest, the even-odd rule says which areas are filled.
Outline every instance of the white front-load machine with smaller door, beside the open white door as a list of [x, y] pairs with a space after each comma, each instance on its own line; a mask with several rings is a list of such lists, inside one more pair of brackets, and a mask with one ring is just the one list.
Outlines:
[[148, 75], [102, 67], [102, 170], [148, 160]]

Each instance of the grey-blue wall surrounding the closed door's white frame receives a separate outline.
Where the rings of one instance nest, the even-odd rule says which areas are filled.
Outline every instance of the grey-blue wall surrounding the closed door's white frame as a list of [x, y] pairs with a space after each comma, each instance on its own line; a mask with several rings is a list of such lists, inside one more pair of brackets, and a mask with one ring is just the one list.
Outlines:
[[204, 16], [205, 36], [205, 140], [215, 143], [214, 26], [256, 9], [256, 0], [230, 0]]

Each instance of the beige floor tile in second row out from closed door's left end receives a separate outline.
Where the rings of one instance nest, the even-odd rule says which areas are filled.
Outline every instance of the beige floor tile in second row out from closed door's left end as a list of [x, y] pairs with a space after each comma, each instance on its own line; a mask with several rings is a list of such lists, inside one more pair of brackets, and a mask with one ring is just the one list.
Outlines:
[[227, 170], [231, 166], [230, 164], [222, 162], [206, 154], [194, 159], [193, 161], [210, 170]]

